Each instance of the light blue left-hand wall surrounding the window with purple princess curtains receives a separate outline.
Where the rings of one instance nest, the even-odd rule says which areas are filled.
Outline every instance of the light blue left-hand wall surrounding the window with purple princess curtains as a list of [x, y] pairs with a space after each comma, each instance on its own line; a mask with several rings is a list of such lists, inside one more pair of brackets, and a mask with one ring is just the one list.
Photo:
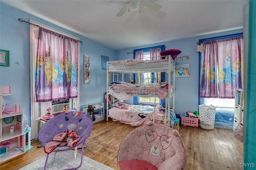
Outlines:
[[[0, 86], [11, 86], [12, 95], [5, 96], [6, 105], [21, 105], [30, 119], [30, 19], [81, 39], [80, 105], [103, 102], [106, 91], [106, 70], [101, 68], [101, 55], [116, 60], [116, 50], [88, 38], [36, 18], [26, 12], [0, 3], [0, 49], [10, 51], [10, 67], [0, 66]], [[83, 83], [84, 54], [90, 55], [90, 84]]]

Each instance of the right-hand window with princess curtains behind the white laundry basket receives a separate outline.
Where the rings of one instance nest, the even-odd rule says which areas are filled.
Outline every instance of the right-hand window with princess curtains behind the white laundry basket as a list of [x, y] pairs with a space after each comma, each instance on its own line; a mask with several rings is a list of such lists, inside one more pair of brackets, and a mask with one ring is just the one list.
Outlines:
[[199, 40], [200, 102], [219, 108], [234, 108], [235, 89], [243, 87], [243, 36]]

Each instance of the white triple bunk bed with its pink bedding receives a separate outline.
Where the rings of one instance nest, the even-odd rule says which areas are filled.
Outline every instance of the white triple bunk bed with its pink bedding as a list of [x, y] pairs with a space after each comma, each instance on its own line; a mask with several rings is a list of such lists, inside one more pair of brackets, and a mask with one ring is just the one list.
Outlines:
[[[157, 60], [127, 59], [107, 62], [107, 91], [106, 96], [113, 96], [114, 99], [109, 108], [109, 100], [106, 100], [107, 121], [110, 117], [113, 121], [126, 123], [134, 127], [146, 125], [148, 121], [154, 123], [170, 124], [170, 116], [174, 115], [175, 104], [175, 62], [171, 55], [158, 57]], [[132, 84], [130, 82], [134, 74], [166, 72], [168, 81], [161, 83]], [[130, 76], [129, 76], [130, 75]], [[110, 79], [112, 78], [112, 81]], [[118, 81], [119, 79], [122, 81]], [[166, 99], [166, 105], [128, 105], [123, 102], [132, 96], [156, 97]], [[172, 103], [171, 103], [172, 100]], [[171, 106], [172, 104], [172, 106]]]

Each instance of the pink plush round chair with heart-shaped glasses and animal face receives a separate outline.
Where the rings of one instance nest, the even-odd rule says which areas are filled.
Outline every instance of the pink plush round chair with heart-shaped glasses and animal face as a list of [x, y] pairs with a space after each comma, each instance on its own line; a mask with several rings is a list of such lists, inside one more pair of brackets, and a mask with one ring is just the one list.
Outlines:
[[117, 161], [121, 170], [181, 170], [186, 157], [177, 130], [149, 122], [122, 140]]

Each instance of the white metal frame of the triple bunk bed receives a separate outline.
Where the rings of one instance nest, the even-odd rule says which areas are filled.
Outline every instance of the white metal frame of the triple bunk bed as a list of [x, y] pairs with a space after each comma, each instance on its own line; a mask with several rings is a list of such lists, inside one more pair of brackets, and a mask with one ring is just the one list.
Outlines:
[[[153, 68], [141, 68], [140, 70], [138, 70], [138, 68], [136, 67], [135, 68], [135, 64], [134, 65], [129, 65], [127, 66], [128, 69], [115, 69], [115, 70], [112, 70], [112, 69], [109, 69], [109, 65], [111, 65], [111, 62], [113, 61], [108, 61], [107, 62], [107, 91], [106, 91], [106, 120], [108, 121], [108, 117], [109, 116], [109, 113], [108, 113], [108, 95], [109, 95], [109, 85], [110, 85], [110, 77], [111, 77], [111, 73], [112, 76], [113, 76], [113, 82], [114, 82], [114, 76], [116, 75], [117, 76], [117, 81], [118, 81], [118, 73], [122, 73], [122, 81], [124, 79], [124, 73], [130, 73], [130, 79], [132, 79], [132, 76], [131, 74], [133, 73], [148, 73], [148, 72], [166, 72], [168, 73], [168, 96], [165, 98], [167, 99], [167, 105], [165, 106], [165, 111], [168, 111], [167, 112], [167, 116], [168, 116], [168, 123], [169, 123], [169, 126], [170, 126], [170, 109], [172, 108], [174, 110], [174, 106], [175, 106], [175, 90], [172, 94], [172, 96], [170, 96], [170, 90], [171, 90], [171, 82], [172, 82], [172, 85], [175, 85], [175, 61], [172, 59], [171, 55], [167, 55], [167, 56], [160, 56], [160, 58], [167, 58], [167, 59], [159, 59], [159, 60], [154, 60], [154, 61], [167, 61], [168, 60], [168, 66], [166, 67], [153, 67]], [[132, 60], [132, 59], [130, 59]], [[135, 61], [136, 59], [134, 59]], [[120, 61], [125, 61], [125, 60], [120, 60]], [[172, 79], [172, 81], [171, 81]], [[134, 95], [136, 96], [136, 95]], [[156, 95], [154, 96], [156, 97]], [[159, 97], [158, 97], [159, 98]], [[173, 103], [172, 103], [172, 107], [170, 105], [170, 100], [173, 100]], [[118, 101], [118, 99], [116, 100]], [[155, 100], [156, 101], [156, 100]], [[114, 96], [113, 96], [113, 103], [114, 103]], [[155, 114], [155, 107], [156, 107], [156, 103], [154, 105], [154, 114]], [[153, 122], [155, 120], [160, 120], [160, 121], [164, 121], [164, 125], [166, 125], [166, 113], [165, 113], [165, 118], [164, 120], [163, 119], [155, 119], [155, 117], [153, 116]]]

